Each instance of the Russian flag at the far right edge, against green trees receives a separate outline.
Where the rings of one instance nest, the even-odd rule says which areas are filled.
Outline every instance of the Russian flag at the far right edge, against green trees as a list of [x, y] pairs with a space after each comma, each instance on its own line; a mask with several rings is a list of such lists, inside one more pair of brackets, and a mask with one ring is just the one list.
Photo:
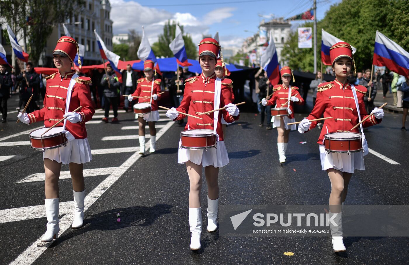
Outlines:
[[379, 31], [376, 31], [372, 63], [386, 66], [402, 76], [409, 74], [409, 53]]

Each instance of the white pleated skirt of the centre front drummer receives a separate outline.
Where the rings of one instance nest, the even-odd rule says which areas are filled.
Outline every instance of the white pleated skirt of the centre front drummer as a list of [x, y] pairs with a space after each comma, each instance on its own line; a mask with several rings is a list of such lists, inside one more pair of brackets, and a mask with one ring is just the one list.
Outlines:
[[202, 164], [202, 167], [224, 167], [229, 163], [229, 155], [224, 141], [219, 141], [217, 148], [190, 150], [180, 148], [179, 140], [178, 163], [183, 164], [189, 160], [196, 165]]

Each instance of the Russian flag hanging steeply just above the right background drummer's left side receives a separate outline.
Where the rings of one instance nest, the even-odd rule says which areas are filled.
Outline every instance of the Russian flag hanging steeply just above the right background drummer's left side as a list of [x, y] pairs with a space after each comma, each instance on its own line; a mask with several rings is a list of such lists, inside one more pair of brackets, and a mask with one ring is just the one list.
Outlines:
[[273, 34], [270, 32], [270, 42], [267, 49], [261, 55], [261, 67], [267, 72], [267, 77], [272, 85], [277, 85], [280, 81], [280, 65], [277, 58], [276, 45], [274, 44]]

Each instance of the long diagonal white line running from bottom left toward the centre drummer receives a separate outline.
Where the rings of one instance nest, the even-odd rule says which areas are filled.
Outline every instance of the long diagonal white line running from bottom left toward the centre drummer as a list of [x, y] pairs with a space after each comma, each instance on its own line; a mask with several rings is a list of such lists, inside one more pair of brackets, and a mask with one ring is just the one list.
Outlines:
[[[167, 125], [160, 129], [156, 134], [156, 139], [160, 139], [160, 137], [174, 124], [174, 122], [168, 122]], [[149, 141], [146, 143], [146, 147], [150, 147]], [[105, 180], [103, 180], [95, 189], [92, 190], [86, 197], [85, 197], [85, 209], [86, 211], [95, 201], [102, 196], [104, 192], [106, 192], [109, 187], [112, 186], [142, 155], [135, 152], [130, 158], [128, 158], [121, 166], [117, 167], [114, 172], [110, 176], [108, 176]], [[65, 206], [65, 205], [64, 205]], [[72, 218], [74, 218], [73, 214], [73, 205], [67, 207], [60, 207], [61, 212], [67, 212], [65, 216], [60, 219], [60, 235], [71, 226]], [[65, 208], [68, 208], [66, 210]], [[47, 248], [52, 244], [40, 244], [40, 240], [43, 237], [41, 235], [31, 246], [27, 247], [27, 249], [22, 252], [14, 261], [10, 264], [32, 264], [36, 259], [47, 250]], [[58, 239], [57, 239], [58, 240]]]

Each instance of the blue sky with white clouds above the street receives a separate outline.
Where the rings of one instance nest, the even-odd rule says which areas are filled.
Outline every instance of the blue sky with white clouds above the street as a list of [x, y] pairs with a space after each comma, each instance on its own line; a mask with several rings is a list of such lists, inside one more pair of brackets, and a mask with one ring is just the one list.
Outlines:
[[[317, 18], [324, 18], [331, 4], [340, 1], [317, 0]], [[241, 47], [246, 37], [258, 31], [262, 19], [288, 18], [312, 7], [312, 0], [110, 0], [110, 3], [114, 34], [127, 33], [128, 29], [142, 31], [144, 25], [152, 44], [162, 33], [164, 23], [176, 20], [195, 43], [202, 34], [213, 36], [219, 31], [224, 47]]]

